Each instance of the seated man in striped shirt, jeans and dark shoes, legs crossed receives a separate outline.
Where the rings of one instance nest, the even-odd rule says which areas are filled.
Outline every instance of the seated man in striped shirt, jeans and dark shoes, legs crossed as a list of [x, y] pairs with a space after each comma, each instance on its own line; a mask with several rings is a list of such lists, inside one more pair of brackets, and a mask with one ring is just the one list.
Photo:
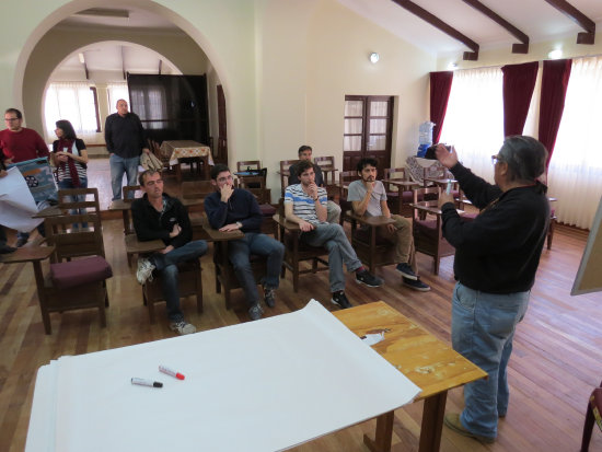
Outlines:
[[368, 287], [379, 287], [382, 279], [370, 274], [358, 259], [340, 224], [326, 222], [326, 189], [315, 185], [315, 173], [311, 162], [302, 161], [297, 165], [300, 184], [290, 185], [285, 193], [285, 216], [287, 220], [298, 223], [301, 229], [301, 241], [310, 246], [324, 246], [328, 250], [331, 301], [343, 309], [351, 303], [345, 295], [345, 274], [356, 273], [356, 282]]

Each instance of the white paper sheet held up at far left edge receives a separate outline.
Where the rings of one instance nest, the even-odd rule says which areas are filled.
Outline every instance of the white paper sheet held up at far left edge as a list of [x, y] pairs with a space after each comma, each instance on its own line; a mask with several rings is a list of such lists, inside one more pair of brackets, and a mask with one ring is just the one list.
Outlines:
[[0, 224], [16, 231], [31, 231], [43, 221], [32, 218], [37, 213], [37, 206], [16, 167], [9, 169], [8, 175], [0, 177]]

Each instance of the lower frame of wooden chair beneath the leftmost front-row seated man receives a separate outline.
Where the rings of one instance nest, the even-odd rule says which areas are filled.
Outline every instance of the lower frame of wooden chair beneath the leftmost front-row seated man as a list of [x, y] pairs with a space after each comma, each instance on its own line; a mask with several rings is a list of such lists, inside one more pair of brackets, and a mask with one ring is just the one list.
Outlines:
[[[180, 297], [195, 295], [197, 312], [202, 314], [202, 277], [200, 260], [189, 260], [177, 265], [177, 288]], [[165, 301], [163, 297], [163, 280], [161, 275], [153, 271], [152, 280], [147, 279], [142, 285], [142, 302], [148, 308], [150, 323], [155, 322], [154, 304]]]

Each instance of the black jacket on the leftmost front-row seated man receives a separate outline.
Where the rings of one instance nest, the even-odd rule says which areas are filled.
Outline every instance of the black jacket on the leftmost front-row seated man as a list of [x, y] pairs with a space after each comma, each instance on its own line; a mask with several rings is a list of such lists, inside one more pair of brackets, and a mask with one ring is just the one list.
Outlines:
[[[161, 213], [152, 207], [146, 194], [142, 198], [135, 199], [131, 202], [134, 229], [140, 242], [160, 239], [165, 246], [172, 245], [174, 248], [178, 248], [193, 239], [190, 219], [180, 199], [172, 198], [164, 193], [163, 201], [165, 202], [165, 209]], [[180, 224], [182, 232], [170, 239], [170, 232], [172, 232], [175, 223]]]

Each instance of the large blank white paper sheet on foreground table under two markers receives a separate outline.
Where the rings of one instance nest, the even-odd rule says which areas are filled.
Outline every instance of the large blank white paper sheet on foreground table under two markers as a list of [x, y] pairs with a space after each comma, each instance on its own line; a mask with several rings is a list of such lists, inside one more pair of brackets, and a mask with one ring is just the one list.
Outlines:
[[[56, 367], [54, 450], [61, 452], [283, 450], [420, 391], [315, 301], [258, 322], [63, 357]], [[132, 385], [132, 376], [163, 387]], [[33, 420], [34, 413], [30, 433]], [[31, 444], [27, 452], [46, 451]]]

